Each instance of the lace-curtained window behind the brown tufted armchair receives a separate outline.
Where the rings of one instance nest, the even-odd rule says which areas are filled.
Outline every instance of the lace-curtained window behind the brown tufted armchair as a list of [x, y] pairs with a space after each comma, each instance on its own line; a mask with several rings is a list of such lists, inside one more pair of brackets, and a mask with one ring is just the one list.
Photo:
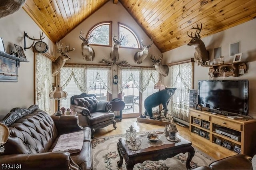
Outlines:
[[[100, 67], [100, 69], [99, 69]], [[60, 71], [60, 86], [68, 93], [60, 107], [70, 107], [70, 97], [81, 93], [95, 94], [98, 100], [109, 101], [112, 94], [111, 67], [64, 65]]]

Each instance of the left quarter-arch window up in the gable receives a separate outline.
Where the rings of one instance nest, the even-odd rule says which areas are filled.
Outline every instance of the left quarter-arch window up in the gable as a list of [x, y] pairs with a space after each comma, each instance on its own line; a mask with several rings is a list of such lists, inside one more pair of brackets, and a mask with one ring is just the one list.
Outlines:
[[111, 45], [111, 28], [112, 22], [101, 22], [93, 26], [86, 35], [90, 44]]

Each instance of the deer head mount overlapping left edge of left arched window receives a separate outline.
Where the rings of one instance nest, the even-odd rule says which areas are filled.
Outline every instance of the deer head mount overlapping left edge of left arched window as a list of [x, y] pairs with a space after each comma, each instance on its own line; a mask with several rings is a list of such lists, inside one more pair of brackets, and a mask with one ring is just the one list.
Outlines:
[[79, 38], [80, 38], [80, 40], [83, 41], [82, 42], [82, 55], [86, 61], [93, 61], [93, 59], [95, 57], [95, 52], [92, 49], [92, 47], [90, 47], [90, 45], [89, 45], [89, 40], [92, 37], [93, 37], [93, 34], [90, 34], [89, 38], [85, 38], [82, 36], [82, 30], [80, 31]]

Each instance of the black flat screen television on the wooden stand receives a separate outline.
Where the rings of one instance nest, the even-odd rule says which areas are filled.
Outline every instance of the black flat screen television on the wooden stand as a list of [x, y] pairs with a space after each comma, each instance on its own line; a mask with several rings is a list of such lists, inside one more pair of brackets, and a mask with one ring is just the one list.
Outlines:
[[218, 111], [248, 115], [248, 80], [199, 80], [198, 104]]

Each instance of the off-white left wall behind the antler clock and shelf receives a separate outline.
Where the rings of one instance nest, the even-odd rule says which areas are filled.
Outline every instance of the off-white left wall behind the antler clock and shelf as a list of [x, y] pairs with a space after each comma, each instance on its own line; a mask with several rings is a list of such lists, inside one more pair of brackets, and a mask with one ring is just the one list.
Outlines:
[[[30, 37], [39, 38], [40, 28], [23, 9], [0, 18], [0, 37], [4, 40], [7, 53], [14, 49], [14, 43], [24, 48], [24, 31]], [[48, 43], [49, 51], [53, 52], [54, 44], [47, 37], [44, 42]], [[27, 39], [27, 47], [31, 43], [32, 41]], [[34, 104], [34, 53], [32, 49], [26, 49], [24, 52], [29, 63], [20, 63], [18, 82], [0, 82], [0, 117], [14, 107], [28, 108]]]

